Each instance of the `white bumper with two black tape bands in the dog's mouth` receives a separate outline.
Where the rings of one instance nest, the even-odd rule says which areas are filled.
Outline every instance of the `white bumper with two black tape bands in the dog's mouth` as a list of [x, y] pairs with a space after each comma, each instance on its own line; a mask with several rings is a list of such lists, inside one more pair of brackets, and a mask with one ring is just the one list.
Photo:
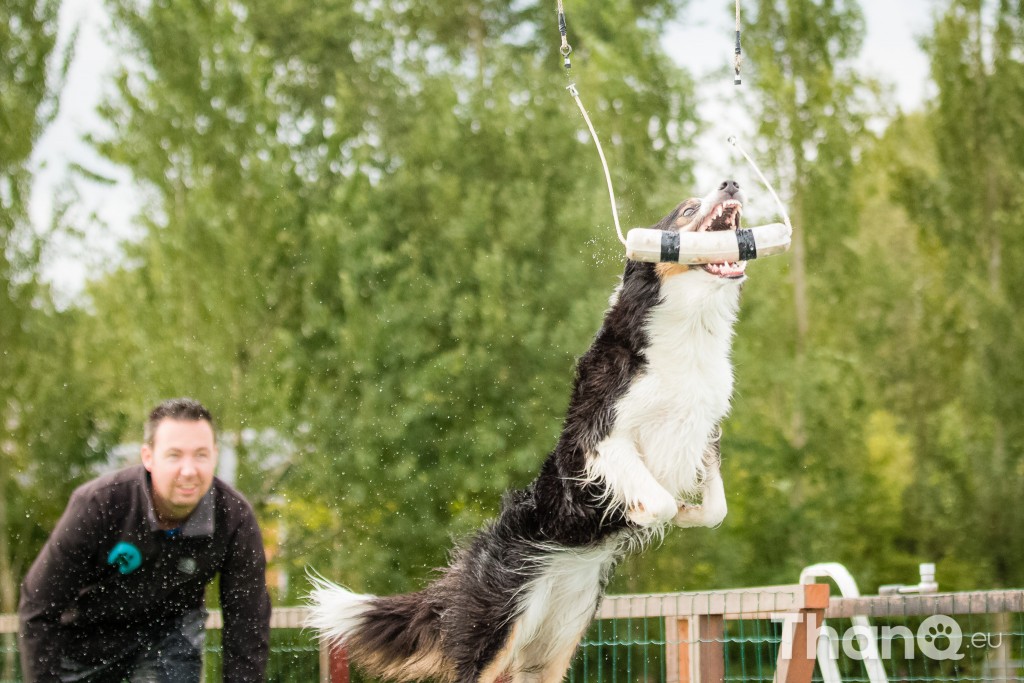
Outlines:
[[647, 263], [734, 263], [781, 254], [790, 249], [792, 237], [785, 223], [714, 232], [635, 227], [626, 236], [626, 257]]

